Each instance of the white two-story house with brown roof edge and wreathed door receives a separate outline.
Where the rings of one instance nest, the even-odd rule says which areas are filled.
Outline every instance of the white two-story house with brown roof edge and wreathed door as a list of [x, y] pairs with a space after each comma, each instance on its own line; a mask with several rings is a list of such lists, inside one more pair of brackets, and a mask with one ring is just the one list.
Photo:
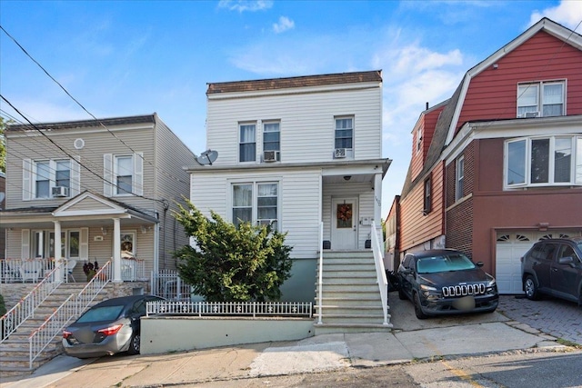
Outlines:
[[381, 72], [210, 83], [206, 95], [211, 158], [186, 167], [191, 201], [208, 216], [286, 232], [294, 264], [283, 299], [313, 301], [322, 249], [349, 261], [369, 254], [373, 222], [381, 235], [391, 162], [382, 158]]

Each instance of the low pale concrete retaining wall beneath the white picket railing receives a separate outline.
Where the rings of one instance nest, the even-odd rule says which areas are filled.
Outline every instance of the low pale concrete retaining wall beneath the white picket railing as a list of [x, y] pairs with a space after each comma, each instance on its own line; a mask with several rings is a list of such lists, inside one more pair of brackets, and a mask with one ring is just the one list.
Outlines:
[[313, 323], [301, 318], [143, 317], [141, 353], [300, 340], [314, 335]]

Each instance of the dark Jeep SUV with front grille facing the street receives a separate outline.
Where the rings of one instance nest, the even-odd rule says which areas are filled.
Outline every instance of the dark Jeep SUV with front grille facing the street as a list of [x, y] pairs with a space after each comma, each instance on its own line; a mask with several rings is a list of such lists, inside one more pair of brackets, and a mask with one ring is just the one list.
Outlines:
[[398, 267], [400, 299], [415, 306], [416, 318], [449, 313], [487, 312], [497, 309], [495, 278], [467, 255], [450, 249], [406, 254]]

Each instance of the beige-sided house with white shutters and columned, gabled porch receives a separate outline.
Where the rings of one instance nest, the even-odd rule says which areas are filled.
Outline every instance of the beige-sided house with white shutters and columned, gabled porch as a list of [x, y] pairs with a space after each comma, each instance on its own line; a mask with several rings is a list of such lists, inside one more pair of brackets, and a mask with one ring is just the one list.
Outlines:
[[157, 114], [10, 125], [5, 138], [6, 258], [75, 260], [77, 281], [87, 262], [112, 261], [118, 282], [176, 268], [188, 240], [171, 212], [194, 154]]

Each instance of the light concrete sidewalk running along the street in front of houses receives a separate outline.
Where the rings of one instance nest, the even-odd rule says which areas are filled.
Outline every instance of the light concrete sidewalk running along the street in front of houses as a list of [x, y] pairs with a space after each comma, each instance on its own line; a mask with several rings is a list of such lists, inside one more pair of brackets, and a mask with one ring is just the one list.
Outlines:
[[392, 333], [325, 334], [294, 342], [135, 357], [115, 355], [88, 361], [58, 356], [34, 374], [0, 386], [144, 387], [226, 382], [406, 363], [446, 355], [560, 346], [553, 337], [510, 321], [500, 313], [419, 321], [414, 315], [409, 316], [413, 309], [406, 302], [391, 300], [391, 310], [395, 325]]

